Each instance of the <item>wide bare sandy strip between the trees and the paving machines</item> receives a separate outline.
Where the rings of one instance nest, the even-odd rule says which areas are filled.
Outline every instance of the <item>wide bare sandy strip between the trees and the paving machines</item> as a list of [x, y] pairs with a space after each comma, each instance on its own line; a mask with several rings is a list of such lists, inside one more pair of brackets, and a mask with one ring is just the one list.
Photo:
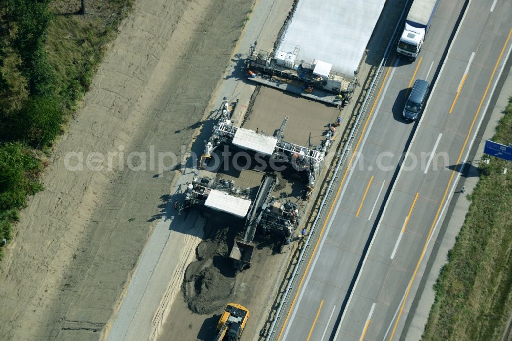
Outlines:
[[[159, 173], [151, 153], [179, 154], [191, 140], [248, 7], [242, 0], [136, 4], [0, 265], [0, 339], [101, 336], [173, 192], [176, 172]], [[85, 160], [121, 150], [113, 169], [106, 161], [100, 171], [65, 164], [69, 152]], [[130, 160], [130, 152], [146, 155]], [[77, 158], [72, 166], [83, 165]]]

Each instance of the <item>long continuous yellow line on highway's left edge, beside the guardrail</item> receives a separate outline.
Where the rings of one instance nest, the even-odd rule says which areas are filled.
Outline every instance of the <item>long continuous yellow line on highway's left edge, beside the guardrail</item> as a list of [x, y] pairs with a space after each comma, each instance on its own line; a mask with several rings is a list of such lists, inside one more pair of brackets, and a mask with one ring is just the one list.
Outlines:
[[311, 257], [309, 258], [308, 265], [306, 266], [306, 270], [304, 270], [304, 274], [302, 275], [301, 282], [299, 282], [298, 287], [297, 287], [297, 292], [295, 293], [295, 296], [293, 297], [293, 301], [291, 303], [290, 310], [288, 311], [288, 314], [286, 315], [286, 318], [285, 318], [285, 322], [283, 323], [283, 327], [281, 328], [281, 331], [279, 332], [278, 341], [281, 339], [283, 331], [285, 330], [286, 323], [288, 322], [288, 318], [290, 317], [290, 312], [293, 309], [293, 306], [295, 305], [295, 301], [297, 300], [298, 293], [301, 290], [302, 283], [304, 282], [304, 278], [306, 278], [306, 273], [308, 273], [308, 269], [309, 269], [309, 267], [311, 265], [311, 261], [313, 260], [313, 255], [315, 254], [316, 248], [318, 247], [318, 244], [319, 244], [320, 240], [322, 239], [322, 235], [324, 233], [325, 226], [327, 225], [327, 222], [329, 221], [329, 217], [331, 216], [332, 209], [333, 209], [334, 204], [336, 203], [336, 200], [337, 200], [337, 198], [339, 196], [339, 192], [342, 189], [343, 183], [345, 182], [345, 179], [347, 177], [348, 171], [350, 169], [350, 165], [352, 164], [352, 161], [354, 160], [354, 156], [355, 156], [355, 154], [357, 152], [357, 148], [359, 147], [359, 143], [361, 142], [362, 136], [365, 135], [366, 127], [368, 125], [368, 122], [370, 122], [370, 118], [372, 117], [373, 110], [375, 109], [375, 104], [377, 103], [377, 101], [378, 101], [378, 99], [380, 97], [380, 93], [382, 92], [382, 89], [384, 88], [384, 84], [386, 84], [386, 80], [388, 79], [388, 75], [389, 75], [389, 72], [390, 72], [390, 70], [392, 68], [392, 65], [393, 65], [394, 61], [395, 61], [395, 58], [393, 58], [393, 60], [391, 61], [390, 66], [388, 67], [388, 71], [386, 72], [386, 75], [384, 76], [384, 79], [382, 81], [382, 85], [380, 86], [379, 92], [377, 93], [377, 97], [375, 98], [375, 101], [373, 102], [372, 109], [370, 110], [370, 113], [368, 114], [368, 118], [366, 119], [366, 122], [365, 122], [365, 124], [362, 127], [361, 135], [359, 136], [359, 139], [357, 140], [357, 144], [356, 144], [356, 146], [354, 148], [354, 152], [352, 153], [352, 157], [350, 158], [350, 161], [349, 161], [349, 164], [347, 166], [347, 169], [345, 169], [345, 173], [343, 174], [342, 181], [339, 183], [339, 187], [338, 187], [338, 190], [336, 192], [336, 196], [334, 197], [334, 200], [332, 201], [331, 207], [329, 208], [329, 212], [327, 214], [326, 220], [324, 222], [324, 225], [322, 225], [322, 229], [320, 230], [318, 239], [316, 240], [315, 247], [313, 248], [313, 252], [311, 253]]

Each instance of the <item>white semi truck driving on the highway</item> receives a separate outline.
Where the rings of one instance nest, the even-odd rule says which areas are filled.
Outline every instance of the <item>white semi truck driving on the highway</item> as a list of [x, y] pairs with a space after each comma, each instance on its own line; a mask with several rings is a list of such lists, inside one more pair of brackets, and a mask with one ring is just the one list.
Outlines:
[[436, 14], [440, 0], [414, 0], [406, 19], [396, 52], [398, 55], [416, 59]]

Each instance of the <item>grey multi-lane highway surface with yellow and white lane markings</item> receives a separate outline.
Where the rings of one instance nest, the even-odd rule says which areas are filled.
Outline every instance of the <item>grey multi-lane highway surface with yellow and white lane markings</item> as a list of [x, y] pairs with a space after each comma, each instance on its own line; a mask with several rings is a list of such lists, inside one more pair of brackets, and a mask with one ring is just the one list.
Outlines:
[[[279, 339], [400, 337], [512, 47], [511, 17], [509, 1], [443, 0], [418, 59], [392, 58]], [[431, 95], [410, 123], [401, 112], [418, 78]]]

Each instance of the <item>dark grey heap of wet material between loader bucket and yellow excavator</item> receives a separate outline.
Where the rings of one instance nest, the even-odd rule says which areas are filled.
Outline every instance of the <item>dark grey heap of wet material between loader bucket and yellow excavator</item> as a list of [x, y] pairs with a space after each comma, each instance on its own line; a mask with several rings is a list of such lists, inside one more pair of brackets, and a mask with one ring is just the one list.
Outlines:
[[211, 314], [233, 295], [235, 272], [224, 240], [202, 241], [196, 254], [198, 261], [187, 266], [181, 288], [191, 311]]

